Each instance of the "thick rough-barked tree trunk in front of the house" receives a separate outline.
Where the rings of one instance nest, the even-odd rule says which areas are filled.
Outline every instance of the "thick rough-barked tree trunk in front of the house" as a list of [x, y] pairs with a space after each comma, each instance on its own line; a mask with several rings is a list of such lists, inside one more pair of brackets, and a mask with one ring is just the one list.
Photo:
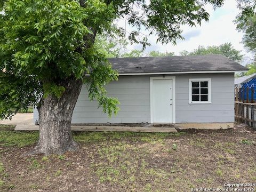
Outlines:
[[75, 150], [77, 143], [71, 135], [71, 118], [82, 81], [67, 81], [62, 84], [66, 88], [61, 98], [49, 95], [42, 98], [39, 112], [39, 140], [34, 153], [63, 154]]

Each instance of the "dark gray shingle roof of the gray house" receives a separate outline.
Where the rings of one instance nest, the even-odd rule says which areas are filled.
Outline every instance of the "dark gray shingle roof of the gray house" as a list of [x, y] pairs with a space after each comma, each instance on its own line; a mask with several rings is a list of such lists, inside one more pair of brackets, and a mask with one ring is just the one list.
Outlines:
[[238, 71], [246, 67], [222, 55], [109, 58], [119, 74], [195, 71]]

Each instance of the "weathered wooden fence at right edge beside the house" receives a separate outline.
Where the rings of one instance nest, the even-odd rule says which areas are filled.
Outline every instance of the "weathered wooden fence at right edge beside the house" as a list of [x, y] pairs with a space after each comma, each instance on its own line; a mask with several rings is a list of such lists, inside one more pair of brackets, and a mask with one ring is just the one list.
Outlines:
[[256, 129], [256, 102], [254, 89], [235, 89], [235, 120]]

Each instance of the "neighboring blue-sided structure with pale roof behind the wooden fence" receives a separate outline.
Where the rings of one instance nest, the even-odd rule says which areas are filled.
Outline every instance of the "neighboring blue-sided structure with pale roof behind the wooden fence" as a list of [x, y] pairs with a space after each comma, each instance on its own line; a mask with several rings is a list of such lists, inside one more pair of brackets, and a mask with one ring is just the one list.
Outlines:
[[[244, 100], [252, 99], [252, 90], [253, 90], [253, 100], [256, 100], [255, 88], [256, 87], [256, 73], [252, 75], [247, 75], [243, 77], [235, 78], [235, 88], [238, 91], [238, 98]], [[248, 93], [246, 89], [249, 88]], [[244, 95], [244, 96], [243, 96]], [[248, 97], [248, 98], [247, 98]]]

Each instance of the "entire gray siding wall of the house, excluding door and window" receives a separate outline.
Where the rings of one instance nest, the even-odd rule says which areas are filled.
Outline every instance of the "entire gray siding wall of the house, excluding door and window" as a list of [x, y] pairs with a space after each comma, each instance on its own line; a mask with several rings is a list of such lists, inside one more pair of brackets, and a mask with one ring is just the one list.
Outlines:
[[[176, 78], [176, 123], [234, 122], [234, 73], [170, 76]], [[189, 78], [211, 78], [212, 103], [189, 104]], [[117, 82], [107, 86], [107, 91], [110, 97], [118, 98], [121, 103], [117, 116], [109, 118], [103, 114], [97, 101], [88, 99], [84, 85], [71, 123], [150, 123], [150, 76], [119, 76]], [[36, 120], [38, 114], [34, 115]]]

